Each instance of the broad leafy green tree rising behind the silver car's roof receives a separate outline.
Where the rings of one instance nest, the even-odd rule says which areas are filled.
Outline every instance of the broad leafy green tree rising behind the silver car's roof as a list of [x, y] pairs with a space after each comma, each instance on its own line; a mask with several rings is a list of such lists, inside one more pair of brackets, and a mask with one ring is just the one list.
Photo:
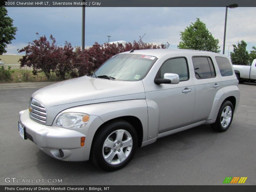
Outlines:
[[212, 36], [206, 25], [196, 18], [185, 30], [180, 32], [180, 49], [220, 52], [219, 40]]

